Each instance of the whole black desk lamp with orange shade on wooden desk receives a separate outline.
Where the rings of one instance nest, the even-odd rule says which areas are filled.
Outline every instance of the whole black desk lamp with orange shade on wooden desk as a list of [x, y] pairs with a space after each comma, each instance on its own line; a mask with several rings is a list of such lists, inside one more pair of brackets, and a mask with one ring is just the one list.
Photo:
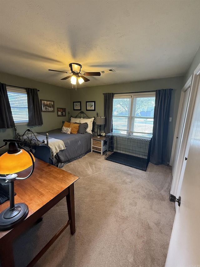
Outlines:
[[[14, 203], [14, 181], [27, 179], [31, 176], [34, 170], [34, 156], [27, 151], [25, 148], [22, 149], [19, 140], [15, 139], [4, 139], [5, 145], [1, 148], [8, 146], [8, 152], [4, 153], [0, 157], [0, 173], [5, 175], [4, 177], [0, 174], [0, 179], [6, 179], [9, 183], [9, 195], [10, 195], [10, 207], [4, 209], [0, 213], [0, 230], [8, 230], [14, 227], [15, 224], [25, 219], [28, 215], [28, 206], [25, 203]], [[21, 149], [20, 149], [20, 148]], [[19, 178], [15, 172], [21, 172], [28, 167], [32, 166], [32, 170], [27, 177]], [[9, 173], [9, 174], [8, 174]], [[8, 175], [7, 175], [8, 174]]]

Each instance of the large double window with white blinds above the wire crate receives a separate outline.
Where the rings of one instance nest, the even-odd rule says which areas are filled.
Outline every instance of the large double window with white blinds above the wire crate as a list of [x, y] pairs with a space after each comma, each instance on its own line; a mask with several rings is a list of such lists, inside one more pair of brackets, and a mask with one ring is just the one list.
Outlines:
[[120, 94], [113, 99], [113, 132], [152, 135], [155, 92]]

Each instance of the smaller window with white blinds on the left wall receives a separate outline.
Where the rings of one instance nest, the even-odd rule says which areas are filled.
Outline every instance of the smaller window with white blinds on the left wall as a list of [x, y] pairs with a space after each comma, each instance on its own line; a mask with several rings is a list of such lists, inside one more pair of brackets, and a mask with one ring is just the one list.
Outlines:
[[7, 87], [7, 93], [14, 122], [27, 123], [28, 103], [26, 90]]

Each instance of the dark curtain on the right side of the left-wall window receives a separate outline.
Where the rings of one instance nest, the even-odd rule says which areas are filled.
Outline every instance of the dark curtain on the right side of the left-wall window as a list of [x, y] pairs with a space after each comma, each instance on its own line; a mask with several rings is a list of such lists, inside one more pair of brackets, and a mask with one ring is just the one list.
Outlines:
[[26, 88], [26, 91], [28, 100], [28, 125], [42, 125], [42, 112], [37, 89]]

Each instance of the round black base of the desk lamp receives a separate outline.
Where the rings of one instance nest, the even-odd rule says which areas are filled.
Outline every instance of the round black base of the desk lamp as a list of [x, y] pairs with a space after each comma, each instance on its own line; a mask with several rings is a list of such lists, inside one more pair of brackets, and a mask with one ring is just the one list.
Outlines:
[[25, 203], [17, 203], [13, 209], [3, 210], [0, 213], [0, 231], [13, 228], [15, 224], [27, 217], [28, 211], [28, 206]]

